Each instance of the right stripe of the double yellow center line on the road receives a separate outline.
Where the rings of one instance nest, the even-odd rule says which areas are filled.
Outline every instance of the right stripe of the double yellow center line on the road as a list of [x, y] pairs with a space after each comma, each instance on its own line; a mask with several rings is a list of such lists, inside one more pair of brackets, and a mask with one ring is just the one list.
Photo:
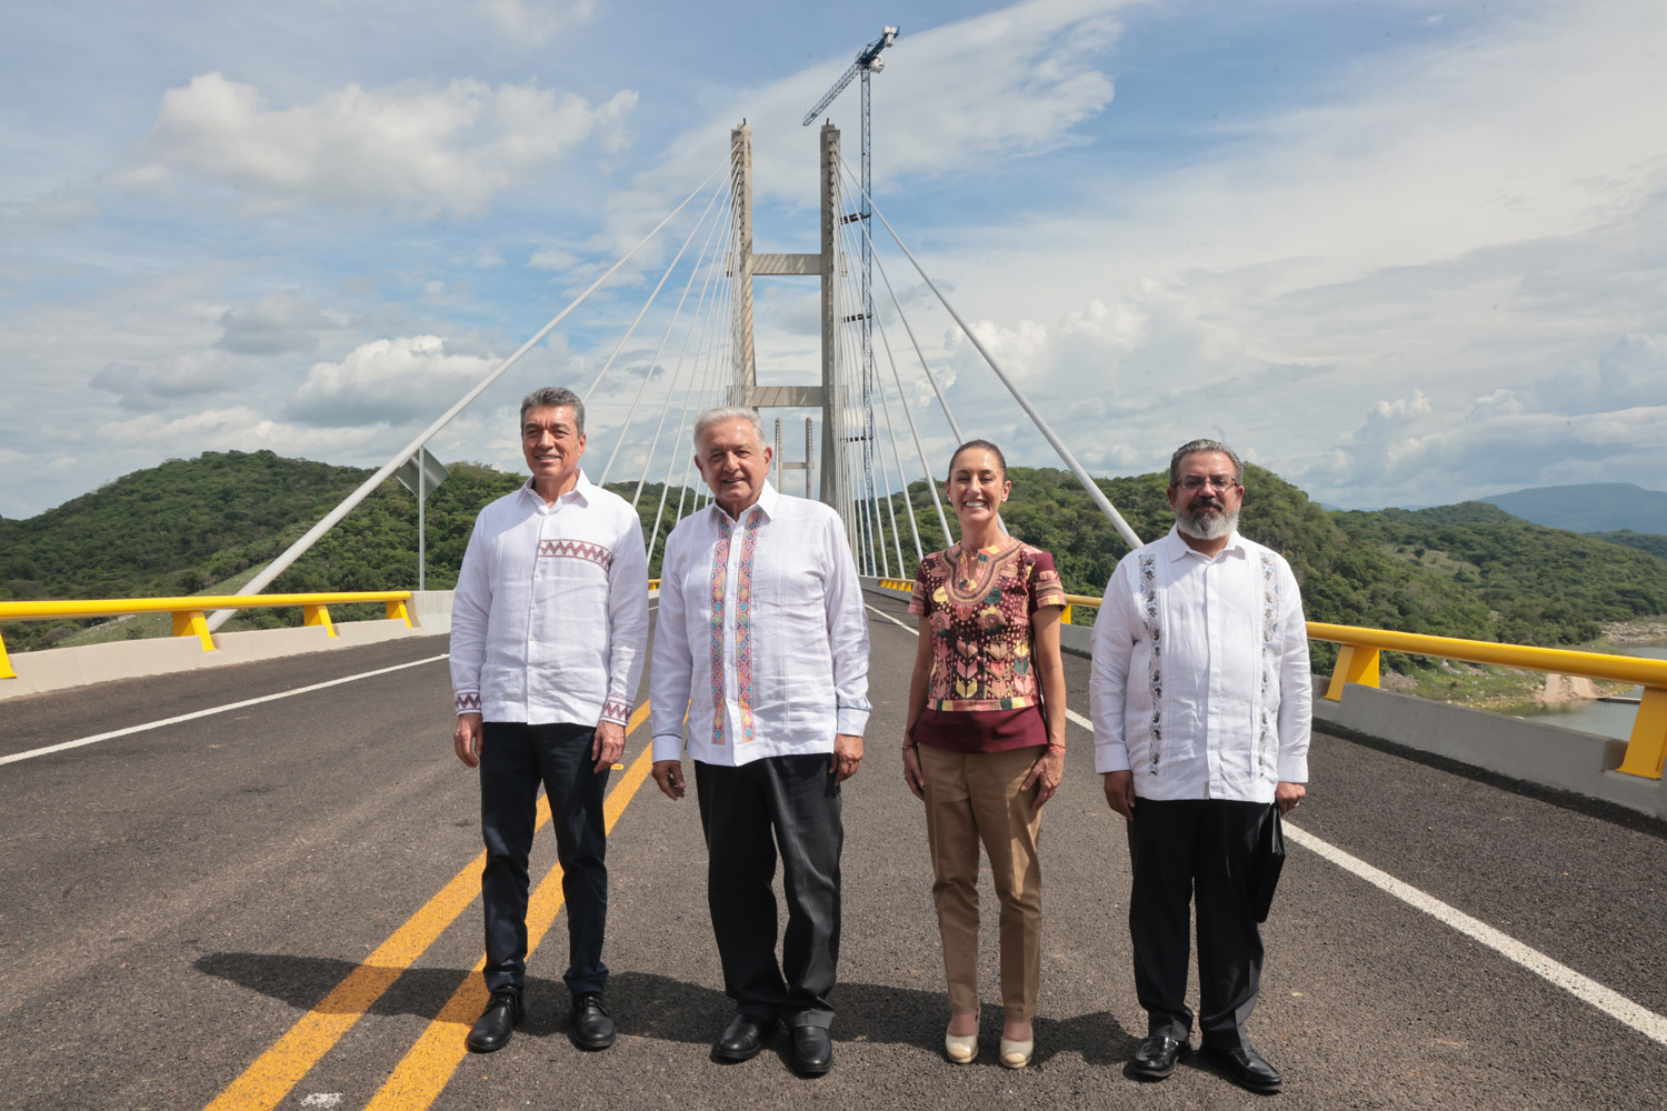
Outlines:
[[[645, 706], [647, 708], [647, 706]], [[635, 718], [633, 718], [635, 721]], [[625, 813], [625, 806], [637, 795], [637, 788], [648, 778], [653, 766], [653, 746], [643, 746], [637, 760], [632, 761], [618, 785], [608, 793], [603, 805], [602, 820], [608, 833], [613, 823]], [[538, 948], [557, 911], [562, 909], [562, 866], [557, 864], [538, 883], [527, 903], [527, 954]], [[487, 1006], [487, 984], [480, 971], [487, 966], [487, 958], [475, 961], [473, 971], [463, 978], [452, 998], [447, 999], [440, 1013], [428, 1023], [405, 1058], [395, 1066], [388, 1083], [365, 1104], [365, 1111], [420, 1111], [428, 1108], [440, 1096], [440, 1091], [452, 1079], [457, 1066], [468, 1053], [465, 1038], [468, 1028]]]

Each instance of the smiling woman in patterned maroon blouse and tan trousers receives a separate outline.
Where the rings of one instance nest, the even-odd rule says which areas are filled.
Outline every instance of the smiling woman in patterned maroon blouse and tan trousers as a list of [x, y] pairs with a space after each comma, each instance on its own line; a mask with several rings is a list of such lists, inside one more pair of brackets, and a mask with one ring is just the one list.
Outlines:
[[944, 1049], [979, 1056], [979, 843], [1002, 903], [1000, 1059], [1024, 1068], [1042, 974], [1042, 805], [1065, 766], [1065, 591], [1054, 556], [1002, 530], [1007, 460], [970, 440], [949, 465], [945, 496], [960, 543], [920, 565], [909, 611], [920, 648], [909, 685], [904, 781], [927, 805], [932, 898], [944, 938], [950, 1023]]

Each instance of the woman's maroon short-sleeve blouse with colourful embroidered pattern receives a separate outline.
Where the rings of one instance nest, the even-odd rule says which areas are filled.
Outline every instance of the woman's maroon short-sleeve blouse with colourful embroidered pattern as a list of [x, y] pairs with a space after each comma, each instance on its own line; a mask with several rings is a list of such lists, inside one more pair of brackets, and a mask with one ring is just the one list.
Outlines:
[[1047, 743], [1032, 616], [1064, 606], [1054, 556], [1014, 538], [962, 555], [935, 551], [909, 611], [932, 626], [932, 680], [914, 740], [962, 753]]

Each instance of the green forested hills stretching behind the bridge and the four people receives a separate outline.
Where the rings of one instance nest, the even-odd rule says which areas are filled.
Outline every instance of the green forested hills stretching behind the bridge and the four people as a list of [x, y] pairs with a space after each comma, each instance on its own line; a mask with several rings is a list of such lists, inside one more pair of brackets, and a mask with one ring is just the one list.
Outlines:
[[[432, 590], [457, 581], [475, 513], [513, 490], [522, 475], [452, 463], [428, 496]], [[0, 598], [118, 598], [195, 593], [277, 556], [368, 471], [285, 460], [270, 451], [205, 453], [137, 471], [27, 521], [0, 520]], [[1062, 470], [1012, 470], [1009, 530], [1054, 553], [1072, 593], [1099, 595], [1127, 545], [1089, 495]], [[1342, 513], [1259, 466], [1245, 468], [1242, 531], [1282, 551], [1304, 586], [1310, 620], [1534, 645], [1574, 645], [1599, 625], [1667, 613], [1667, 560], [1597, 536], [1530, 525], [1485, 503], [1430, 510]], [[630, 498], [633, 483], [610, 483]], [[1100, 488], [1145, 540], [1170, 526], [1164, 475], [1100, 480]], [[678, 495], [667, 495], [660, 536]], [[647, 533], [660, 486], [643, 488]], [[909, 500], [927, 551], [944, 536], [924, 481]], [[904, 521], [902, 576], [915, 570]], [[887, 515], [882, 515], [885, 518]], [[950, 515], [954, 525], [954, 515]], [[895, 545], [889, 543], [895, 563]], [[897, 573], [897, 568], [892, 568]], [[658, 546], [650, 566], [658, 571]], [[383, 483], [272, 586], [273, 591], [402, 590], [417, 586], [417, 500]], [[352, 616], [352, 615], [342, 615]], [[293, 623], [293, 615], [247, 611], [245, 623]], [[82, 623], [85, 625], [85, 623]], [[55, 643], [67, 631], [45, 621], [5, 626], [10, 648]], [[1334, 650], [1315, 646], [1315, 666]], [[1405, 663], [1402, 663], [1405, 666]]]

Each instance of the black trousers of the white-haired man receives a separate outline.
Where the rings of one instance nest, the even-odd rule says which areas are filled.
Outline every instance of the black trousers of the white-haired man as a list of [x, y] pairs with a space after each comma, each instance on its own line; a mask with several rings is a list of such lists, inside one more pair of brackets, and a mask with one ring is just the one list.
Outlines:
[[[740, 768], [695, 761], [707, 834], [707, 903], [723, 993], [742, 1014], [788, 1026], [834, 1021], [839, 966], [840, 790], [828, 755], [767, 756]], [[775, 961], [777, 846], [787, 934]]]

